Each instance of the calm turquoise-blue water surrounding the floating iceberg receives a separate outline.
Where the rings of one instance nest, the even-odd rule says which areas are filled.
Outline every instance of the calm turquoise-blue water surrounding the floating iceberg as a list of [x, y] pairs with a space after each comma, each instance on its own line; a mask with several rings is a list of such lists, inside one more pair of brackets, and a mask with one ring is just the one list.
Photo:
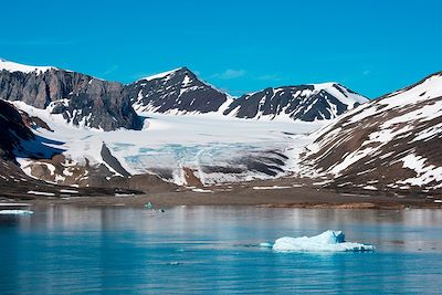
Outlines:
[[[0, 217], [1, 294], [440, 294], [442, 211], [34, 208]], [[275, 253], [343, 230], [373, 253]]]

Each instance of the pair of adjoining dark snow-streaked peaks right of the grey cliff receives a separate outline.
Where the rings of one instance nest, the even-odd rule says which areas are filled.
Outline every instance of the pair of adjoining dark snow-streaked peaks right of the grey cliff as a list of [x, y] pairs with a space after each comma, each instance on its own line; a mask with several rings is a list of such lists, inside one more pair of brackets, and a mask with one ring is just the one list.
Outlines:
[[187, 67], [141, 78], [127, 85], [126, 93], [138, 112], [217, 112], [238, 118], [288, 117], [305, 122], [333, 119], [368, 101], [337, 83], [265, 88], [233, 98]]

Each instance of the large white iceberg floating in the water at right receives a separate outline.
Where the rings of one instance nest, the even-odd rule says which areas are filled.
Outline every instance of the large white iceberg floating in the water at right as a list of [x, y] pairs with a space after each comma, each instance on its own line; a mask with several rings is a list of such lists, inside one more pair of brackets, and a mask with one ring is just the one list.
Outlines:
[[284, 236], [275, 241], [274, 251], [312, 251], [312, 252], [364, 252], [373, 251], [375, 246], [346, 242], [341, 231], [325, 231], [315, 236], [291, 238]]

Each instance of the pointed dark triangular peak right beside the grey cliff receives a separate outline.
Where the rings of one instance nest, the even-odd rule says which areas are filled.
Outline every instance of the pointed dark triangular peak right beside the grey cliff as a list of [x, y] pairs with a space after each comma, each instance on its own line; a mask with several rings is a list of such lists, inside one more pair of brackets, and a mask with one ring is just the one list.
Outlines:
[[126, 95], [136, 109], [157, 113], [217, 112], [228, 99], [186, 67], [127, 85]]

